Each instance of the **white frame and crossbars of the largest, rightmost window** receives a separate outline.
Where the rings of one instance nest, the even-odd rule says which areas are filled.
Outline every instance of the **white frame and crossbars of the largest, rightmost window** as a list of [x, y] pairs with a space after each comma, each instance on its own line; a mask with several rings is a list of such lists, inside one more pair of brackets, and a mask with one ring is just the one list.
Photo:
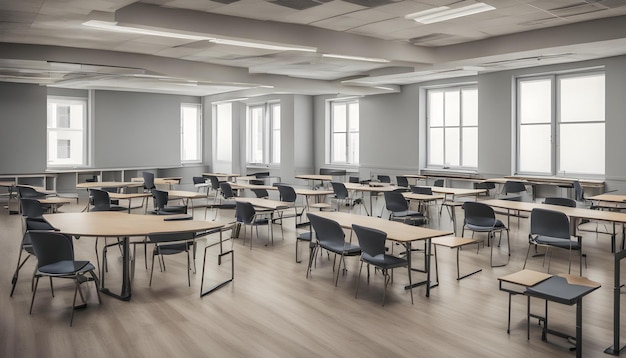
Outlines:
[[[604, 93], [605, 99], [605, 113], [604, 119], [602, 121], [575, 121], [575, 122], [563, 122], [562, 121], [562, 113], [560, 110], [561, 107], [561, 79], [567, 78], [582, 78], [589, 76], [602, 75], [604, 76], [604, 80], [606, 81], [606, 73], [603, 68], [594, 68], [594, 69], [585, 69], [585, 70], [576, 70], [576, 71], [567, 71], [567, 72], [555, 72], [548, 74], [537, 74], [537, 75], [527, 75], [520, 76], [515, 79], [515, 172], [516, 174], [525, 174], [525, 175], [537, 175], [537, 176], [556, 176], [556, 177], [566, 177], [566, 176], [576, 176], [581, 178], [596, 178], [603, 177], [606, 174], [606, 167], [603, 169], [602, 173], [578, 173], [574, 171], [566, 171], [561, 168], [562, 160], [561, 160], [561, 143], [563, 141], [562, 128], [567, 124], [597, 124], [601, 123], [604, 126], [604, 130], [606, 131], [606, 92]], [[550, 120], [549, 122], [542, 123], [522, 123], [522, 91], [521, 84], [523, 82], [530, 81], [538, 81], [538, 80], [549, 80], [550, 81]], [[606, 84], [605, 84], [606, 91]], [[532, 125], [549, 125], [550, 126], [550, 171], [531, 171], [531, 170], [521, 170], [520, 165], [522, 162], [522, 151], [520, 146], [522, 144], [522, 127], [524, 126], [532, 126]], [[605, 132], [606, 133], [606, 132]], [[603, 141], [603, 142], [606, 142]], [[606, 148], [604, 149], [604, 160], [606, 160]]]

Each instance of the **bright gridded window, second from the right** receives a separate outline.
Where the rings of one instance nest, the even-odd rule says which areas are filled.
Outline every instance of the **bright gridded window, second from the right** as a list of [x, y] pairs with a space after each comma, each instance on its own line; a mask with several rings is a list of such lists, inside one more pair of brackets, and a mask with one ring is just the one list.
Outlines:
[[478, 89], [461, 86], [426, 91], [428, 167], [478, 167]]

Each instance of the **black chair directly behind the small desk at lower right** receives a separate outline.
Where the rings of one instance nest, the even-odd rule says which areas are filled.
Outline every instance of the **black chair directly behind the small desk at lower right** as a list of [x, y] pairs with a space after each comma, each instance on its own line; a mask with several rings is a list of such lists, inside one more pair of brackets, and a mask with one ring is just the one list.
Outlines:
[[[530, 234], [528, 235], [528, 251], [526, 251], [526, 259], [524, 260], [524, 268], [528, 261], [530, 248], [533, 246], [543, 246], [546, 248], [546, 255], [552, 247], [569, 250], [569, 268], [568, 273], [572, 271], [572, 251], [579, 252], [580, 272], [582, 276], [582, 245], [581, 237], [576, 236], [577, 240], [571, 239], [569, 218], [562, 212], [535, 208], [530, 213]], [[545, 262], [544, 256], [544, 262]], [[550, 260], [548, 260], [548, 272], [550, 272]]]

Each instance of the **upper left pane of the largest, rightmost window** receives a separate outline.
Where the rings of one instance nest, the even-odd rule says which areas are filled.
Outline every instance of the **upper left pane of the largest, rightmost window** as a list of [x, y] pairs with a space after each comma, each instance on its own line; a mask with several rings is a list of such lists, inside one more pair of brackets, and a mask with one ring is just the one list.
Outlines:
[[520, 83], [520, 123], [550, 123], [552, 118], [550, 79]]

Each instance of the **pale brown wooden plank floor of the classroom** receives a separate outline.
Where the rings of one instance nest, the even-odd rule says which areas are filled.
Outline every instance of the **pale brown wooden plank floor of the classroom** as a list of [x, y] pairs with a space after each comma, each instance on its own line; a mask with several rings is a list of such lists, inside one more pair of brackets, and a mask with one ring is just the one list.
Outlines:
[[[80, 211], [82, 205], [67, 205], [61, 211]], [[203, 216], [202, 209], [196, 210], [197, 218]], [[230, 219], [232, 211], [220, 216]], [[458, 216], [462, 218], [461, 210]], [[184, 255], [167, 257], [165, 272], [157, 266], [152, 287], [148, 287], [150, 271], [144, 269], [143, 255], [138, 255], [132, 300], [122, 302], [103, 295], [99, 305], [89, 284], [84, 290], [88, 307], [76, 311], [74, 325], [69, 327], [73, 287], [67, 281], [56, 281], [55, 297], [51, 297], [49, 285], [42, 280], [33, 314], [28, 314], [34, 260], [22, 269], [16, 292], [9, 297], [21, 222], [18, 215], [9, 215], [0, 207], [0, 357], [575, 356], [569, 350], [571, 345], [561, 338], [549, 336], [548, 342], [542, 341], [536, 321], [530, 340], [526, 339], [526, 300], [521, 296], [513, 297], [512, 331], [506, 333], [508, 296], [498, 290], [497, 277], [522, 268], [527, 219], [521, 220], [519, 228], [517, 220], [511, 223], [512, 257], [507, 266], [490, 268], [488, 248], [481, 247], [478, 254], [464, 250], [461, 270], [483, 271], [457, 281], [454, 251], [442, 248], [441, 283], [431, 290], [430, 297], [425, 297], [423, 286], [416, 288], [415, 304], [411, 305], [409, 292], [403, 289], [407, 275], [400, 269], [384, 307], [380, 274], [372, 274], [369, 285], [363, 277], [355, 299], [356, 258], [347, 259], [348, 271], [340, 276], [338, 287], [332, 284], [332, 260], [326, 256], [317, 261], [312, 277], [305, 278], [306, 263], [294, 260], [293, 224], [286, 223], [284, 240], [275, 230], [273, 246], [268, 245], [263, 229], [252, 250], [243, 246], [241, 239], [234, 240], [234, 282], [203, 298], [199, 295], [201, 254], [191, 287], [187, 286]], [[435, 216], [430, 225], [450, 228], [445, 210], [442, 218]], [[204, 245], [205, 240], [200, 242], [200, 253]], [[606, 357], [603, 351], [612, 344], [613, 334], [613, 256], [606, 235], [596, 238], [586, 233], [584, 246], [588, 255], [584, 275], [601, 282], [602, 287], [584, 299], [583, 356]], [[92, 238], [76, 240], [75, 247], [77, 258], [95, 263]], [[501, 250], [495, 251], [496, 260], [506, 259], [504, 248]], [[110, 252], [107, 284], [117, 287], [121, 258], [116, 251]], [[207, 286], [228, 276], [229, 263], [217, 266], [216, 253], [215, 248], [209, 250], [206, 267], [211, 280]], [[306, 245], [301, 245], [301, 254], [306, 262]], [[415, 264], [423, 262], [420, 253], [413, 255]], [[555, 253], [551, 272], [566, 271], [566, 262], [565, 254]], [[529, 268], [547, 269], [540, 258], [531, 259]], [[415, 273], [414, 280], [422, 276]], [[533, 303], [533, 311], [542, 312], [542, 302]], [[550, 310], [552, 328], [573, 334], [575, 308], [552, 304]]]

